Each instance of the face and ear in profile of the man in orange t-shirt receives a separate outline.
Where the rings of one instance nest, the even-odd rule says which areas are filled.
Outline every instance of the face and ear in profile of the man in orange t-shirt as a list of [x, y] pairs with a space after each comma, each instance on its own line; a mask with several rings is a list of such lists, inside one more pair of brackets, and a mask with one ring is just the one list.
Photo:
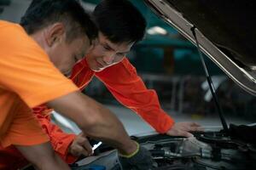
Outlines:
[[41, 35], [43, 37], [36, 34], [34, 38], [43, 44], [51, 62], [66, 77], [71, 75], [73, 65], [83, 59], [86, 52], [92, 48], [87, 36], [73, 38], [67, 42], [65, 26], [61, 23], [48, 26]]

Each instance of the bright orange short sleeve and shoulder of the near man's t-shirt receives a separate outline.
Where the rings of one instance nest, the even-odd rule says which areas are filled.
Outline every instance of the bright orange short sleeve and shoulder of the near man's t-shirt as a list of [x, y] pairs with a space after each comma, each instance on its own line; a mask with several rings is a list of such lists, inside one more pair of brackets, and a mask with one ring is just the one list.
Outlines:
[[29, 107], [79, 90], [19, 25], [0, 21], [0, 84]]

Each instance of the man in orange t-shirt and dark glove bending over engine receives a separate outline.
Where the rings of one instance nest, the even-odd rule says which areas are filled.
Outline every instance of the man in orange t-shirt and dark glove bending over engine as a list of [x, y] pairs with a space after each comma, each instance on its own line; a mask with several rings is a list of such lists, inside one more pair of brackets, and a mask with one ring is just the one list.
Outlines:
[[76, 122], [84, 135], [150, 169], [148, 150], [129, 138], [111, 111], [61, 74], [69, 75], [97, 35], [84, 9], [74, 0], [34, 0], [30, 8], [21, 26], [0, 21], [0, 147], [15, 145], [38, 169], [69, 169], [32, 116], [30, 108], [45, 103]]

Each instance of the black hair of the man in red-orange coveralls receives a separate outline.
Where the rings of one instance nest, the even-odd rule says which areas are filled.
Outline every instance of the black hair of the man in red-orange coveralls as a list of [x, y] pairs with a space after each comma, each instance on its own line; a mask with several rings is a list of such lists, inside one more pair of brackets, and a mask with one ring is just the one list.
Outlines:
[[138, 42], [143, 39], [146, 20], [128, 0], [102, 0], [93, 19], [99, 31], [111, 42]]

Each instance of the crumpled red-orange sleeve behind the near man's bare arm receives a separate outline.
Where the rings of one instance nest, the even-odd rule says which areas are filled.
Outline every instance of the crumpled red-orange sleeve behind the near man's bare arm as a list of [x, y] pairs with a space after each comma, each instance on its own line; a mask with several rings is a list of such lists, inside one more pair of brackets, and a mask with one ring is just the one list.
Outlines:
[[68, 153], [68, 148], [76, 138], [75, 134], [64, 133], [60, 127], [50, 122], [50, 115], [43, 116], [40, 113], [34, 113], [38, 121], [44, 129], [44, 132], [49, 135], [50, 143], [55, 152], [67, 163], [71, 164], [78, 158]]

